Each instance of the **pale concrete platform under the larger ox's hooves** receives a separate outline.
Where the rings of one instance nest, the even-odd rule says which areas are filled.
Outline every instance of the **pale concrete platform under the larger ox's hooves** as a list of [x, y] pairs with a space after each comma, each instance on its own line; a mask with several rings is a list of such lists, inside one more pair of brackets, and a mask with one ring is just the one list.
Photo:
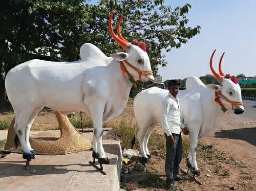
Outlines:
[[[110, 159], [109, 165], [103, 165], [106, 175], [88, 163], [92, 160], [92, 151], [36, 155], [30, 163], [30, 170], [25, 170], [25, 160], [21, 154], [11, 153], [0, 159], [0, 190], [119, 190], [122, 164], [120, 142], [103, 140], [103, 146]], [[33, 169], [36, 170], [34, 174], [31, 173]]]

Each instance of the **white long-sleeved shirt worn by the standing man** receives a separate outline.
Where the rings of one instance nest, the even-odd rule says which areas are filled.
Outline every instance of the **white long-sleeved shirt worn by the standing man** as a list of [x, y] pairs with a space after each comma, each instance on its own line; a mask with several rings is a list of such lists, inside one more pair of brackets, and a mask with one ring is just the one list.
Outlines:
[[172, 133], [180, 134], [180, 129], [183, 129], [185, 127], [181, 123], [179, 99], [175, 99], [170, 93], [162, 102], [161, 123], [164, 133], [167, 136], [172, 135]]

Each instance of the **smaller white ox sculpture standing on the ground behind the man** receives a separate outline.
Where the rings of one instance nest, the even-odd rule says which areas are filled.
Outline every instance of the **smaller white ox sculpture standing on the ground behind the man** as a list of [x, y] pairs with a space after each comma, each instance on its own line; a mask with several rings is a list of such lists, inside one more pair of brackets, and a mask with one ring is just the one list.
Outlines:
[[[227, 79], [230, 75], [226, 76], [221, 69], [224, 53], [219, 63], [220, 74], [212, 67], [214, 53], [210, 58], [210, 69], [221, 85], [205, 86], [199, 78], [189, 77], [186, 80], [186, 90], [180, 90], [178, 93], [181, 120], [189, 129], [190, 151], [187, 166], [197, 175], [200, 174], [196, 161], [197, 141], [214, 135], [227, 109], [233, 109], [235, 114], [241, 114], [244, 111], [240, 86], [236, 84], [236, 81], [234, 83]], [[168, 90], [152, 87], [141, 91], [134, 99], [134, 113], [139, 127], [140, 151], [142, 160], [145, 162], [151, 158], [147, 149], [148, 138], [153, 127], [161, 122], [162, 101], [167, 95]]]

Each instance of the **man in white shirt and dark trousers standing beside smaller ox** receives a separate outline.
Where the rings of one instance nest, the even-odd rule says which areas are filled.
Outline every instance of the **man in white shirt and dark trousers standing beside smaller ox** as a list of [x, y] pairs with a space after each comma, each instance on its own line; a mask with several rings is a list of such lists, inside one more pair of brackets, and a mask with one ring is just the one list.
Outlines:
[[162, 127], [166, 138], [165, 173], [169, 187], [175, 187], [174, 181], [181, 180], [179, 165], [182, 159], [181, 129], [188, 135], [188, 129], [181, 123], [180, 104], [176, 98], [179, 92], [177, 80], [168, 81], [169, 94], [162, 102]]

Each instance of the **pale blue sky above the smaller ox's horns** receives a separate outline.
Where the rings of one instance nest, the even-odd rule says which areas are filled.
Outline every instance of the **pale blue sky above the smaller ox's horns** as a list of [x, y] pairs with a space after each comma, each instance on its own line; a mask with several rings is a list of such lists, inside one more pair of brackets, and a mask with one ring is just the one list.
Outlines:
[[188, 26], [201, 26], [200, 34], [166, 55], [167, 67], [158, 73], [166, 79], [211, 74], [209, 59], [214, 57], [215, 68], [225, 52], [222, 67], [226, 74], [256, 75], [256, 1], [254, 0], [167, 0], [165, 5], [183, 6], [189, 3]]

